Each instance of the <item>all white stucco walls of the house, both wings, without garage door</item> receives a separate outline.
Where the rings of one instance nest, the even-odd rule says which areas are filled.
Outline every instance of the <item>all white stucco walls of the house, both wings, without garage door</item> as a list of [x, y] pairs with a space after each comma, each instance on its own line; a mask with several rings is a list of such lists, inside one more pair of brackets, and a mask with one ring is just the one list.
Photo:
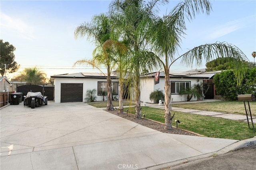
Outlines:
[[[149, 99], [150, 93], [154, 90], [159, 89], [164, 92], [164, 73], [160, 72], [160, 81], [158, 84], [154, 84], [154, 75], [155, 73], [149, 73], [148, 75], [144, 75], [141, 77], [141, 96], [140, 101], [146, 103], [158, 103], [158, 101], [151, 101]], [[86, 102], [86, 91], [96, 89], [96, 101], [103, 101], [103, 96], [98, 95], [98, 81], [106, 82], [106, 78], [102, 76], [100, 73], [75, 73], [75, 74], [67, 74], [67, 75], [57, 75], [52, 76], [54, 78], [54, 101], [56, 103], [61, 102], [61, 84], [62, 83], [82, 83], [83, 84], [83, 102]], [[170, 82], [190, 82], [190, 87], [194, 84], [202, 82], [204, 77], [199, 76], [191, 76], [191, 75], [181, 75], [181, 74], [170, 74]], [[118, 82], [116, 79], [116, 75], [112, 75], [112, 82]], [[118, 85], [118, 95], [119, 95], [120, 87]], [[118, 95], [115, 95], [118, 97]], [[171, 95], [172, 102], [186, 101], [187, 95], [180, 94], [172, 94]], [[105, 97], [106, 100], [106, 97]], [[196, 98], [192, 98], [191, 101], [197, 100]]]

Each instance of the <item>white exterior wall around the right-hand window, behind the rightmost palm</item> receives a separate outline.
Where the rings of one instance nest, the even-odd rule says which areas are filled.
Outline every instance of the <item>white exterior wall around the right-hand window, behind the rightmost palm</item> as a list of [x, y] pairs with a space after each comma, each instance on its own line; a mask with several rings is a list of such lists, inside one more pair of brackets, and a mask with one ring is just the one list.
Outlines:
[[[200, 81], [197, 82], [198, 79], [181, 79], [181, 78], [170, 78], [170, 81], [190, 81], [191, 87], [193, 87], [194, 84], [196, 83], [201, 83], [203, 79], [199, 79]], [[154, 85], [154, 77], [150, 77], [145, 79], [145, 81], [142, 82], [142, 87], [141, 87], [141, 96], [140, 96], [140, 101], [144, 102], [146, 101], [147, 103], [158, 103], [158, 101], [151, 101], [149, 99], [149, 95], [151, 92], [154, 90], [159, 89], [162, 90], [164, 93], [164, 78], [161, 77], [159, 80], [159, 83]], [[180, 94], [172, 94], [172, 102], [180, 102], [180, 101], [187, 101], [187, 95], [180, 95]], [[195, 97], [192, 97], [191, 101], [197, 100]]]

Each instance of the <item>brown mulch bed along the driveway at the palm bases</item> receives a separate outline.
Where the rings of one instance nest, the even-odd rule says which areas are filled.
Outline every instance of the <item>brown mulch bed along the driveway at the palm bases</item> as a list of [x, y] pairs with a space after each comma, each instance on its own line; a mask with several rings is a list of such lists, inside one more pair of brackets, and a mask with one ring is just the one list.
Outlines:
[[107, 111], [109, 113], [112, 113], [114, 115], [117, 115], [119, 117], [122, 117], [124, 119], [127, 119], [129, 121], [133, 121], [135, 123], [138, 123], [142, 126], [149, 127], [149, 128], [154, 129], [154, 130], [158, 130], [158, 131], [163, 132], [163, 133], [183, 134], [183, 135], [190, 135], [190, 136], [202, 136], [200, 134], [189, 132], [189, 131], [183, 130], [181, 128], [176, 128], [176, 127], [172, 127], [172, 130], [167, 130], [167, 129], [164, 128], [163, 123], [152, 121], [152, 120], [146, 119], [144, 117], [142, 117], [142, 119], [135, 119], [134, 115], [132, 115], [130, 113], [118, 114], [118, 110], [113, 110], [113, 111], [105, 110], [105, 111]]

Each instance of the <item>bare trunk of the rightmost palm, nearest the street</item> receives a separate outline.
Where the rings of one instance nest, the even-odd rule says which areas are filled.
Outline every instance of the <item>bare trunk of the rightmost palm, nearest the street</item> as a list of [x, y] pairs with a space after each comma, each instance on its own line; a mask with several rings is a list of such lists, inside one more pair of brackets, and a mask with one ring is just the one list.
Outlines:
[[169, 71], [165, 71], [165, 96], [164, 96], [164, 113], [165, 113], [165, 121], [164, 121], [164, 128], [165, 129], [172, 129], [172, 105], [171, 105], [171, 86], [170, 86], [170, 75]]

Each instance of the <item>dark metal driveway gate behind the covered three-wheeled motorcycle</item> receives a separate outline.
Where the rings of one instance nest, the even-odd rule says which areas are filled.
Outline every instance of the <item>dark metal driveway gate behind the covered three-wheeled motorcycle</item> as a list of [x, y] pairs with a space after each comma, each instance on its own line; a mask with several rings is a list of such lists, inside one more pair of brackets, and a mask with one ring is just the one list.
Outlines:
[[26, 95], [29, 91], [41, 92], [42, 95], [48, 97], [48, 101], [54, 100], [54, 86], [25, 84], [19, 85], [16, 89], [16, 92], [23, 93], [23, 95]]

